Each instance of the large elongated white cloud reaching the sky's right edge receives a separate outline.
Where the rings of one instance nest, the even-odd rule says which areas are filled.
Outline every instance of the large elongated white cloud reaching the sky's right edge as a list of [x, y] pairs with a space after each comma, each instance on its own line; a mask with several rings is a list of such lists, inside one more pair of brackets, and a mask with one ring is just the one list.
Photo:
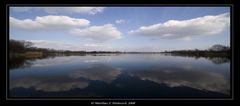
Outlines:
[[230, 26], [230, 14], [208, 15], [189, 20], [169, 20], [150, 26], [142, 26], [129, 33], [162, 38], [183, 38], [190, 40], [195, 36], [214, 35]]

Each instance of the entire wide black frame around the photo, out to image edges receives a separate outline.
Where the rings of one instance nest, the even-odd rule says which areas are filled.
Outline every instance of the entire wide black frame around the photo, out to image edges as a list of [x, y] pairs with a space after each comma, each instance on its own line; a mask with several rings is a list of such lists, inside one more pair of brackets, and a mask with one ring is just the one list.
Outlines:
[[[231, 71], [231, 84], [234, 84], [233, 86], [233, 92], [231, 91], [231, 96], [233, 97], [233, 99], [230, 99], [230, 100], [211, 100], [211, 99], [208, 99], [208, 100], [205, 100], [205, 101], [202, 101], [202, 103], [209, 103], [209, 100], [211, 101], [211, 103], [219, 103], [219, 104], [235, 104], [237, 102], [237, 100], [239, 100], [239, 83], [237, 83], [239, 81], [239, 65], [238, 65], [238, 62], [239, 62], [239, 49], [237, 49], [237, 36], [234, 36], [234, 35], [237, 35], [238, 33], [236, 32], [236, 23], [239, 23], [237, 18], [237, 14], [236, 14], [236, 11], [238, 10], [237, 9], [237, 5], [235, 1], [233, 0], [201, 0], [201, 1], [188, 1], [188, 0], [159, 0], [159, 1], [153, 1], [153, 0], [147, 0], [147, 1], [135, 1], [135, 0], [128, 0], [127, 2], [125, 0], [92, 0], [92, 1], [70, 1], [68, 0], [67, 2], [66, 1], [55, 1], [55, 0], [39, 0], [39, 1], [27, 1], [27, 0], [19, 0], [19, 1], [1, 1], [1, 11], [2, 13], [6, 12], [6, 16], [3, 17], [5, 18], [5, 20], [1, 20], [1, 22], [5, 23], [5, 24], [2, 24], [2, 32], [5, 32], [6, 34], [8, 34], [8, 28], [6, 26], [8, 26], [8, 18], [7, 16], [9, 15], [8, 14], [8, 9], [6, 8], [7, 5], [30, 5], [30, 4], [35, 4], [36, 6], [43, 6], [43, 5], [46, 5], [46, 6], [51, 6], [51, 5], [57, 5], [57, 6], [66, 6], [66, 5], [77, 5], [77, 6], [121, 6], [121, 7], [124, 7], [124, 6], [201, 6], [201, 5], [206, 5], [206, 6], [216, 6], [216, 5], [230, 5], [231, 6], [231, 52], [232, 52], [232, 55], [231, 55], [231, 70], [234, 69], [234, 73]], [[236, 19], [236, 20], [234, 20]], [[233, 22], [234, 21], [234, 22]], [[5, 35], [6, 35], [5, 34]], [[5, 36], [6, 38], [2, 38], [1, 40], [3, 40], [2, 42], [6, 42], [4, 45], [7, 45], [7, 42], [8, 42], [8, 36]], [[6, 47], [6, 46], [5, 46]], [[8, 48], [5, 49], [6, 50], [6, 54], [5, 56], [2, 55], [2, 60], [4, 63], [4, 67], [5, 70], [8, 70], [8, 67], [7, 67], [7, 59], [8, 59], [8, 54], [7, 54], [7, 51], [8, 51]], [[6, 60], [4, 60], [4, 58]], [[4, 71], [4, 70], [3, 70]], [[6, 74], [8, 73], [3, 73], [2, 74], [2, 84], [4, 84], [5, 86], [2, 86], [3, 89], [2, 89], [2, 96], [1, 96], [1, 99], [0, 100], [3, 100], [5, 101], [4, 103], [7, 103], [6, 101], [12, 101], [12, 100], [9, 100], [7, 99], [7, 93], [6, 93]], [[232, 85], [231, 85], [232, 87]], [[236, 89], [237, 88], [237, 89]], [[51, 100], [51, 99], [50, 99]], [[71, 99], [69, 99], [71, 100]], [[15, 101], [15, 100], [14, 100]], [[35, 100], [33, 100], [35, 101]], [[55, 101], [55, 100], [52, 100], [52, 101]], [[90, 104], [90, 102], [95, 102], [95, 101], [99, 101], [99, 100], [80, 100], [81, 102], [84, 102], [84, 103], [87, 103], [88, 105]], [[105, 102], [105, 101], [109, 101], [107, 99], [104, 99], [104, 100], [100, 100], [100, 102]], [[110, 101], [122, 101], [122, 100], [119, 100], [119, 99], [115, 99], [115, 100], [110, 100]], [[124, 101], [137, 101], [138, 103], [137, 104], [141, 104], [141, 103], [159, 103], [159, 100], [145, 100], [145, 101], [141, 101], [141, 100], [124, 100]], [[177, 104], [179, 102], [181, 103], [193, 103], [193, 102], [196, 102], [196, 100], [193, 100], [193, 101], [186, 101], [186, 100], [170, 100], [171, 101], [175, 101], [175, 103], [171, 103], [171, 104]], [[61, 101], [58, 101], [61, 103]], [[169, 100], [160, 100], [161, 103], [169, 103]], [[75, 102], [74, 102], [75, 103]], [[237, 104], [237, 103], [236, 103]]]

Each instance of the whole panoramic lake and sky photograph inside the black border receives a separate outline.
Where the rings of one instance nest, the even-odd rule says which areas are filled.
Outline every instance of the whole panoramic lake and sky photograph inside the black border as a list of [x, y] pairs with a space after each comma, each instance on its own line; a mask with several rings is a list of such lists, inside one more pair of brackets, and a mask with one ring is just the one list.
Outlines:
[[10, 6], [9, 98], [231, 98], [231, 8]]

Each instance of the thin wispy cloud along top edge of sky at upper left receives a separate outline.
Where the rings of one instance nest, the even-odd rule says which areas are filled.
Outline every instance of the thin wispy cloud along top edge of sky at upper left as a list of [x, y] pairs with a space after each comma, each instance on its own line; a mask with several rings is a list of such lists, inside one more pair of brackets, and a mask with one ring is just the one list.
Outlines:
[[31, 10], [42, 10], [47, 13], [80, 13], [80, 14], [97, 14], [103, 12], [105, 7], [11, 7], [15, 12], [27, 12]]

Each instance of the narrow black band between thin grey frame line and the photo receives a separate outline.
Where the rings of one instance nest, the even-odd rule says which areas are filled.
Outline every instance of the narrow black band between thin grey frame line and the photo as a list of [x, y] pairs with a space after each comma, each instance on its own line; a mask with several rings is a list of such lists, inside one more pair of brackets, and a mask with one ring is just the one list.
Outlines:
[[[74, 7], [74, 6], [85, 6], [85, 5], [36, 5], [36, 4], [27, 4], [27, 5], [16, 5], [16, 4], [11, 4], [11, 5], [7, 5], [7, 17], [9, 18], [9, 8], [10, 7]], [[88, 5], [89, 6], [89, 5]], [[92, 5], [91, 5], [92, 6]], [[106, 5], [93, 5], [93, 6], [106, 6]], [[232, 18], [232, 5], [156, 5], [156, 4], [147, 4], [147, 5], [107, 5], [107, 7], [229, 7], [230, 8], [230, 21], [232, 22], [233, 18]], [[9, 35], [9, 20], [6, 21], [7, 22], [7, 35]], [[230, 48], [231, 51], [232, 49], [232, 23], [231, 23], [231, 27], [230, 27]], [[8, 41], [9, 41], [9, 36], [8, 37]], [[204, 43], [204, 42], [203, 42]], [[8, 52], [9, 52], [9, 48], [8, 48]], [[232, 56], [232, 55], [231, 55]], [[9, 60], [9, 56], [8, 56], [8, 60]], [[231, 58], [232, 60], [232, 58]], [[7, 67], [8, 68], [8, 67]], [[204, 97], [204, 98], [187, 98], [187, 97], [181, 97], [181, 98], [130, 98], [131, 100], [229, 100], [229, 99], [233, 99], [232, 97], [232, 61], [230, 61], [230, 98], [211, 98], [211, 97]], [[60, 100], [64, 100], [64, 99], [74, 99], [74, 100], [129, 100], [129, 98], [107, 98], [107, 97], [10, 97], [9, 96], [9, 69], [7, 69], [7, 98], [8, 99], [39, 99], [39, 100], [46, 100], [46, 99], [60, 99]]]

